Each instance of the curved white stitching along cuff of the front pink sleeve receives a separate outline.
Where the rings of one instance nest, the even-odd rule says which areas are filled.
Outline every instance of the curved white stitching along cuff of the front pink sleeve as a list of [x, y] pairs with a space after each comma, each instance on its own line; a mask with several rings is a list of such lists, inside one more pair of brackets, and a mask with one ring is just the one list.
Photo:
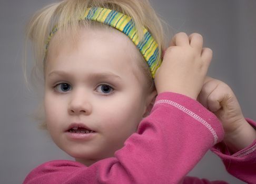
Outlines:
[[186, 113], [187, 115], [191, 116], [192, 118], [194, 118], [195, 120], [198, 120], [199, 122], [201, 122], [206, 128], [208, 128], [210, 130], [210, 132], [213, 135], [214, 138], [214, 145], [218, 142], [218, 136], [216, 134], [216, 132], [214, 131], [214, 129], [211, 127], [211, 125], [206, 122], [205, 120], [203, 120], [200, 116], [194, 114], [192, 111], [190, 111], [189, 109], [183, 107], [182, 105], [175, 103], [174, 101], [171, 100], [157, 100], [155, 102], [155, 104], [169, 104], [172, 105], [180, 110], [182, 110], [184, 113]]

